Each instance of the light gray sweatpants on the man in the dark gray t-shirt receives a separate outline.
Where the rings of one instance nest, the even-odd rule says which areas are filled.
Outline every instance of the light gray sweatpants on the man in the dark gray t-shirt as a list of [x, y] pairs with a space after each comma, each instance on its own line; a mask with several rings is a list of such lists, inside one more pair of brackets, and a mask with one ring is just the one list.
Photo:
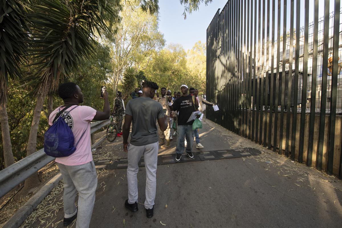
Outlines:
[[128, 167], [127, 167], [127, 184], [128, 184], [128, 203], [138, 201], [138, 162], [144, 155], [144, 163], [146, 169], [146, 188], [145, 188], [145, 208], [151, 209], [156, 198], [156, 173], [158, 160], [159, 143], [152, 143], [145, 146], [134, 146], [129, 144], [128, 147]]

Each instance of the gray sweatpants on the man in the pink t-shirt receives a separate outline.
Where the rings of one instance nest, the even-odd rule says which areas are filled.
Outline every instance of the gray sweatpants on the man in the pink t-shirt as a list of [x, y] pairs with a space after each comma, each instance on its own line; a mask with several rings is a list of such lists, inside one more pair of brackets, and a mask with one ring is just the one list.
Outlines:
[[[89, 227], [95, 202], [97, 175], [93, 161], [83, 165], [63, 165], [57, 163], [64, 182], [64, 217], [70, 218], [77, 213], [76, 228]], [[78, 196], [78, 211], [75, 205]]]

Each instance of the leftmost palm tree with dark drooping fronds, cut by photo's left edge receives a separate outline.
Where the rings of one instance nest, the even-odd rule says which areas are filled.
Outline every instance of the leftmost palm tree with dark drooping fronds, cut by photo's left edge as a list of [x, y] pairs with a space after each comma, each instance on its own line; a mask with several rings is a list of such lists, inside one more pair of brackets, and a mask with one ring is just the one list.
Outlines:
[[5, 167], [14, 163], [6, 104], [9, 79], [21, 78], [19, 65], [24, 60], [27, 38], [23, 13], [24, 8], [17, 0], [0, 4], [0, 123]]

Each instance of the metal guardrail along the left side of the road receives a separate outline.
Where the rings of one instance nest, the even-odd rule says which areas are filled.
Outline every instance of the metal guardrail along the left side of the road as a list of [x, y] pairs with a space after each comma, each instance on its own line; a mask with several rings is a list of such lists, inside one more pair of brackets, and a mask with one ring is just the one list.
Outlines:
[[[103, 128], [110, 120], [97, 121], [90, 124], [90, 133]], [[44, 149], [40, 149], [22, 160], [0, 171], [0, 197], [25, 181], [29, 176], [38, 172], [55, 158], [48, 156]]]

